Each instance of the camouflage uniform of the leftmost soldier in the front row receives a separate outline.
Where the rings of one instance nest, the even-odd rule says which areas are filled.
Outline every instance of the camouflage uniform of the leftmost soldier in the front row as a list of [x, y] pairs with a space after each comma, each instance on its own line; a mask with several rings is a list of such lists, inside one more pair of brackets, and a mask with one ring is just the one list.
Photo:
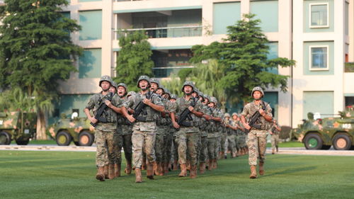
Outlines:
[[[93, 115], [96, 114], [101, 103], [105, 103], [108, 95], [103, 96], [102, 93], [94, 94], [89, 103], [87, 103], [86, 108], [93, 110]], [[114, 95], [111, 103], [113, 106], [120, 106], [122, 101], [118, 95]], [[103, 117], [108, 120], [108, 123], [99, 123], [95, 127], [95, 144], [96, 144], [96, 165], [101, 167], [105, 166], [105, 153], [108, 150], [108, 161], [110, 164], [115, 164], [115, 154], [114, 151], [117, 150], [113, 138], [117, 130], [117, 113], [114, 110], [107, 108]]]

